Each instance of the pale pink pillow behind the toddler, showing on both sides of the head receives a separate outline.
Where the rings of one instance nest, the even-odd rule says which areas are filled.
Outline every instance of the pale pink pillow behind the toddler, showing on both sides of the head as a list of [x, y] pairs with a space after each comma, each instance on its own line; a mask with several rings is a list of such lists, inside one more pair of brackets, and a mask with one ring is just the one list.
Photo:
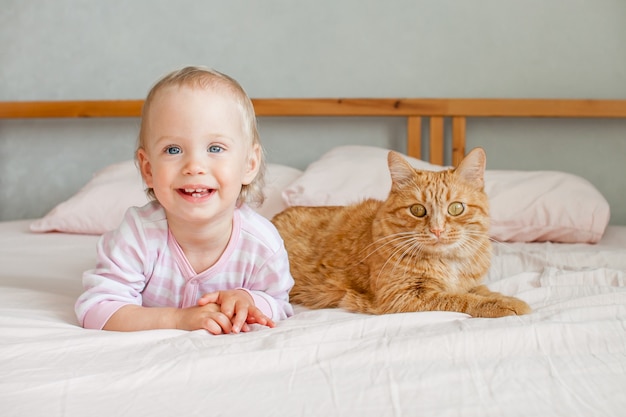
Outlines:
[[[283, 189], [302, 175], [302, 171], [268, 164], [265, 174], [265, 202], [256, 211], [271, 219], [286, 208]], [[75, 195], [30, 224], [33, 232], [102, 234], [115, 229], [129, 207], [148, 202], [144, 184], [134, 161], [110, 165], [97, 172]]]

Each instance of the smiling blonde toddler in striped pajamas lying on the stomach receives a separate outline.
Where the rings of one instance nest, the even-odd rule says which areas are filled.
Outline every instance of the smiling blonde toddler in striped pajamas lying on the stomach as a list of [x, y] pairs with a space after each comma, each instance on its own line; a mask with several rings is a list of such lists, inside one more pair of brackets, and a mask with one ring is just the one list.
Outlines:
[[76, 302], [83, 327], [222, 334], [293, 314], [283, 241], [247, 204], [263, 202], [265, 163], [237, 81], [202, 67], [158, 81], [136, 160], [153, 201], [100, 238]]

